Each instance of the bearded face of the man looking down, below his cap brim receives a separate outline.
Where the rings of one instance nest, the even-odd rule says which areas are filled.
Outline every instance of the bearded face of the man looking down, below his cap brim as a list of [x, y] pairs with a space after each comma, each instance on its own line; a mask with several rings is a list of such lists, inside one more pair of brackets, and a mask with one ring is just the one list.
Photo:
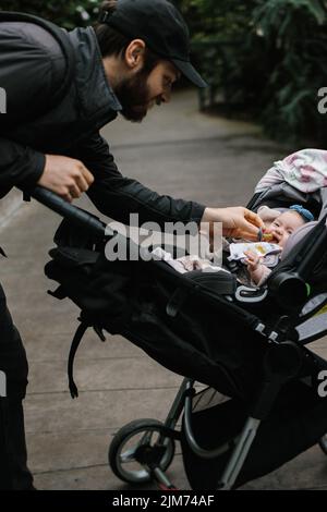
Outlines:
[[126, 78], [116, 90], [129, 121], [141, 122], [154, 105], [170, 100], [171, 86], [180, 73], [169, 61], [162, 60], [148, 73], [138, 71]]

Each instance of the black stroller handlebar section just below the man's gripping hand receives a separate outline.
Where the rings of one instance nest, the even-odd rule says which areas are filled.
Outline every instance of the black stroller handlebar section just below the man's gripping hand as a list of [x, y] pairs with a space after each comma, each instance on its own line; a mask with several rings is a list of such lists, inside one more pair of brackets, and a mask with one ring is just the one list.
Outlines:
[[107, 234], [106, 224], [104, 222], [93, 215], [87, 214], [87, 211], [84, 211], [82, 208], [66, 203], [62, 197], [55, 194], [55, 192], [44, 188], [43, 186], [36, 186], [32, 191], [28, 191], [28, 195], [52, 211], [56, 211], [56, 214], [69, 219], [75, 225], [85, 228], [96, 236], [104, 237], [105, 234]]

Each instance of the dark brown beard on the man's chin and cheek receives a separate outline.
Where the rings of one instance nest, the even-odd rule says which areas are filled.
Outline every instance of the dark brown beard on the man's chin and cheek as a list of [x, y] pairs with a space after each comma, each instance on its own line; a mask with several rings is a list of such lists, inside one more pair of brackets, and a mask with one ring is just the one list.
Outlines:
[[149, 107], [148, 74], [148, 72], [141, 70], [132, 78], [122, 82], [116, 90], [116, 96], [122, 106], [120, 113], [128, 121], [141, 123], [147, 114]]

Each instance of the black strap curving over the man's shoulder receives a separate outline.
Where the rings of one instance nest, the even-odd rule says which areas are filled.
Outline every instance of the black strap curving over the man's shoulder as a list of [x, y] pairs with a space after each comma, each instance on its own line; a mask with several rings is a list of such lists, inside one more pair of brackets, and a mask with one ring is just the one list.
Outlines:
[[[68, 33], [63, 28], [59, 27], [58, 25], [55, 25], [53, 23], [47, 20], [22, 12], [0, 11], [0, 23], [5, 22], [34, 23], [35, 25], [38, 25], [49, 32], [60, 45], [66, 62], [66, 72], [64, 74], [64, 80], [62, 81], [61, 86], [51, 97], [50, 103], [47, 102], [47, 110], [55, 108], [64, 98], [69, 87], [72, 84], [75, 71], [75, 53], [68, 36]], [[28, 112], [22, 112], [19, 121], [31, 121], [37, 119], [43, 113], [45, 113], [45, 107], [43, 106], [37, 109], [34, 105], [33, 110]]]

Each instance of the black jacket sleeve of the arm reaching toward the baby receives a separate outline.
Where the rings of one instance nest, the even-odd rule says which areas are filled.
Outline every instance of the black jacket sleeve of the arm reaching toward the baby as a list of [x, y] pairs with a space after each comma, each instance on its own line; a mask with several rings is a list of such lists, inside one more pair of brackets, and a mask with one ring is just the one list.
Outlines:
[[205, 206], [159, 195], [136, 180], [123, 176], [99, 133], [83, 142], [75, 157], [95, 176], [87, 194], [102, 214], [125, 224], [130, 222], [130, 214], [138, 214], [141, 223], [153, 221], [160, 227], [175, 221], [199, 223]]

